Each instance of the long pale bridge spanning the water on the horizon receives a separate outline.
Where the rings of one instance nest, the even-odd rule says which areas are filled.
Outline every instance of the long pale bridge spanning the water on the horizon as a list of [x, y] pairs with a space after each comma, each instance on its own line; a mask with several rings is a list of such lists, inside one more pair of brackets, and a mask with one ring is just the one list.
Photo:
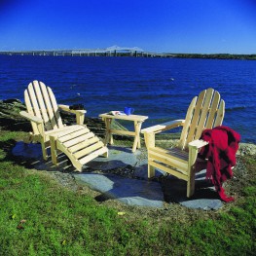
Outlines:
[[31, 51], [0, 51], [0, 55], [71, 55], [71, 56], [143, 56], [143, 57], [172, 57], [170, 54], [145, 52], [138, 47], [128, 48], [112, 46], [97, 49], [74, 50], [31, 50]]

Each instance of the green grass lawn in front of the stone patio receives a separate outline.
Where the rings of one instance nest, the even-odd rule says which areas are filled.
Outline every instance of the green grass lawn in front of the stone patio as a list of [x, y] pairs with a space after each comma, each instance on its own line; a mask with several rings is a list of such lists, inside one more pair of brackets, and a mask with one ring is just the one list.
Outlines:
[[19, 164], [9, 153], [22, 135], [0, 136], [0, 255], [254, 255], [252, 157], [239, 159], [246, 175], [231, 183], [237, 200], [219, 211], [114, 206]]

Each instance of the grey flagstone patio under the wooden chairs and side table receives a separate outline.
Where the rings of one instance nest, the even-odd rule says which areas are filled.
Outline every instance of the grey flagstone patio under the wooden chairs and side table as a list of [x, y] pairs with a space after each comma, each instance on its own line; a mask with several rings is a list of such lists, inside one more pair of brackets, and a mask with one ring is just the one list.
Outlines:
[[[37, 169], [64, 170], [70, 167], [65, 155], [59, 157], [57, 167], [52, 164], [51, 158], [45, 162], [42, 158], [40, 144], [24, 144], [18, 142], [12, 151], [13, 155], [25, 159], [33, 159], [33, 166]], [[62, 158], [62, 160], [60, 160]], [[68, 166], [69, 164], [69, 166]], [[116, 168], [132, 167], [135, 178], [127, 178], [112, 174], [111, 170]], [[196, 175], [196, 192], [191, 199], [186, 197], [187, 184], [171, 175], [160, 178], [158, 181], [147, 179], [147, 160], [142, 152], [137, 150], [131, 152], [130, 148], [109, 146], [109, 158], [98, 157], [85, 166], [82, 173], [73, 172], [73, 176], [82, 183], [87, 184], [91, 189], [99, 191], [101, 196], [98, 201], [116, 199], [129, 205], [162, 207], [164, 201], [168, 203], [180, 203], [189, 208], [203, 210], [219, 209], [223, 202], [219, 200], [215, 189], [205, 180], [205, 170]], [[90, 172], [87, 172], [87, 168]], [[73, 170], [75, 170], [73, 168]], [[91, 172], [92, 170], [92, 172]], [[103, 173], [94, 173], [96, 171]], [[104, 173], [108, 172], [108, 173]], [[163, 171], [156, 171], [156, 176], [161, 177]]]

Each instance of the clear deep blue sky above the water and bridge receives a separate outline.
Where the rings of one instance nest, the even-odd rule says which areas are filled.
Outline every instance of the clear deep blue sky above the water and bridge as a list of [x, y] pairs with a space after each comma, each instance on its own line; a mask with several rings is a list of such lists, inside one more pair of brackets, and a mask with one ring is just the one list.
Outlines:
[[256, 54], [256, 0], [0, 0], [0, 51]]

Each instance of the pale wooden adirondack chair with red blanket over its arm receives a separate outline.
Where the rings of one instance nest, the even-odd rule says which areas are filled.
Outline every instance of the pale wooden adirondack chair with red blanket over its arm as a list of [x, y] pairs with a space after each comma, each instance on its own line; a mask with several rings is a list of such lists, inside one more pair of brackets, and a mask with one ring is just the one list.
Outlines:
[[[195, 173], [198, 152], [207, 142], [200, 140], [204, 128], [222, 125], [225, 102], [220, 99], [218, 91], [207, 89], [201, 91], [190, 103], [185, 120], [176, 120], [162, 125], [141, 130], [144, 133], [148, 150], [148, 177], [155, 175], [155, 168], [187, 181], [187, 197], [195, 191]], [[175, 148], [163, 149], [156, 147], [155, 134], [170, 128], [182, 126], [178, 145]]]

